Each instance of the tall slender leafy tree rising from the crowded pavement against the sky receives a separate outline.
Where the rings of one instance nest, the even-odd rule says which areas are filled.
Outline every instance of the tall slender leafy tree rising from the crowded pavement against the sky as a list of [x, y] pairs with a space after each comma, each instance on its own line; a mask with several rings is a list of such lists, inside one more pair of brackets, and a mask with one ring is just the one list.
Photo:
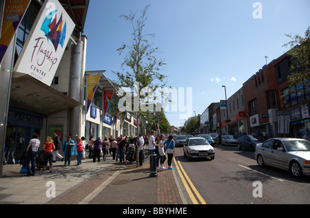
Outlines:
[[[161, 73], [166, 63], [158, 57], [158, 47], [154, 47], [153, 44], [149, 43], [149, 39], [154, 38], [155, 35], [145, 34], [143, 31], [147, 23], [149, 6], [147, 5], [141, 14], [130, 11], [128, 15], [121, 15], [132, 28], [132, 44], [127, 45], [123, 43], [117, 49], [120, 56], [125, 54], [122, 64], [123, 69], [121, 72], [113, 71], [118, 78], [116, 86], [122, 89], [130, 89], [132, 92], [133, 104], [130, 109], [127, 109], [127, 112], [136, 115], [138, 134], [140, 133], [139, 124], [141, 123], [141, 116], [145, 116], [145, 114], [151, 111], [154, 113], [154, 108], [149, 108], [149, 110], [145, 111], [145, 107], [154, 103], [156, 88], [165, 87], [167, 84], [167, 76]], [[128, 104], [128, 102], [121, 102], [121, 104]], [[141, 107], [141, 105], [145, 107]], [[138, 153], [138, 149], [136, 150]], [[138, 166], [138, 160], [136, 163]]]

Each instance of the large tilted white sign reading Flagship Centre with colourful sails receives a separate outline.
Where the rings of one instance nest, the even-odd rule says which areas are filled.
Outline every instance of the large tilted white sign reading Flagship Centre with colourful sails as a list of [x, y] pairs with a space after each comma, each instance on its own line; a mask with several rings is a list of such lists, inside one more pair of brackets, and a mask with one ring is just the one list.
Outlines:
[[75, 24], [58, 0], [44, 1], [14, 72], [51, 85]]

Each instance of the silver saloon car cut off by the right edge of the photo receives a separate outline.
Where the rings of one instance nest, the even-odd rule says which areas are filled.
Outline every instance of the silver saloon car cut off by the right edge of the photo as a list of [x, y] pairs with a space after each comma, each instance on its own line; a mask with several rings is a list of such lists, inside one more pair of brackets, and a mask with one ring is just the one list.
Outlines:
[[295, 177], [310, 175], [310, 142], [299, 138], [271, 138], [256, 146], [259, 166], [285, 169]]

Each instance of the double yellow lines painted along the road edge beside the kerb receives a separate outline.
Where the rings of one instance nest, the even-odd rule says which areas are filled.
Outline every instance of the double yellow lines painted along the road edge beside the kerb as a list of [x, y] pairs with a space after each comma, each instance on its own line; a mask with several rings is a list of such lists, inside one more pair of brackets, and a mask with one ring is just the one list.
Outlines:
[[[193, 204], [207, 204], [205, 202], [205, 200], [203, 199], [203, 197], [201, 197], [201, 195], [198, 193], [198, 190], [195, 188], [191, 179], [189, 179], [189, 177], [185, 173], [184, 168], [180, 164], [180, 161], [178, 161], [178, 160], [176, 160], [176, 158], [174, 158], [174, 163], [176, 164], [176, 169], [178, 170], [178, 174], [180, 175], [180, 178], [182, 179], [182, 182], [185, 186], [185, 189], [187, 190], [187, 193], [188, 193], [190, 199], [192, 200]], [[195, 197], [195, 195], [196, 195], [196, 197]], [[200, 203], [199, 203], [199, 201], [200, 201]]]

